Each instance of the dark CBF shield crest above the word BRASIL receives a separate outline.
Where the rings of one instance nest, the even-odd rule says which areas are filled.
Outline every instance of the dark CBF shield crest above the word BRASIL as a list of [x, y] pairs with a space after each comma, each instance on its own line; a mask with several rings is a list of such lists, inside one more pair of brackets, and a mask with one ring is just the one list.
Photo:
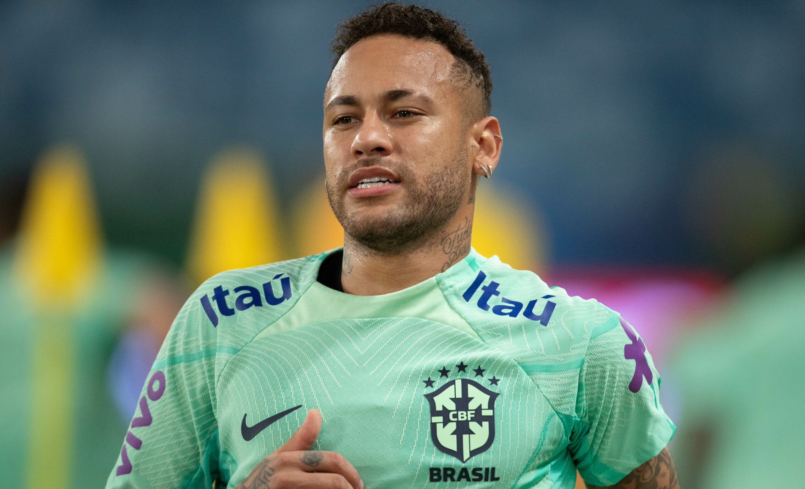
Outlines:
[[[433, 381], [428, 381], [432, 386]], [[436, 448], [461, 462], [489, 450], [495, 439], [497, 396], [470, 379], [450, 380], [425, 394], [431, 405], [431, 439]]]

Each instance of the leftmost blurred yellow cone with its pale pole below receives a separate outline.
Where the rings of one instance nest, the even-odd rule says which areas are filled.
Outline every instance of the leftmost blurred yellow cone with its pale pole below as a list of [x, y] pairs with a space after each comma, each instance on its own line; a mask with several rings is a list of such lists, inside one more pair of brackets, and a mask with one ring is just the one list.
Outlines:
[[101, 235], [84, 160], [56, 146], [36, 166], [23, 208], [16, 272], [33, 311], [27, 487], [71, 485], [72, 314], [101, 265]]

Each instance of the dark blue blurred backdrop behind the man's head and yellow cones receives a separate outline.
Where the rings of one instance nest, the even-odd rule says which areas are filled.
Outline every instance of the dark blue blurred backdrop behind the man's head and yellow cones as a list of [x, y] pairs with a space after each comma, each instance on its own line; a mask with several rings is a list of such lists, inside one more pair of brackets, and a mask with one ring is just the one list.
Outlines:
[[[712, 265], [691, 194], [734, 150], [802, 193], [803, 2], [427, 5], [489, 60], [495, 176], [542, 210], [554, 263]], [[178, 264], [221, 146], [268, 155], [285, 207], [321, 173], [328, 43], [363, 6], [4, 2], [0, 178], [75, 142], [109, 242]]]

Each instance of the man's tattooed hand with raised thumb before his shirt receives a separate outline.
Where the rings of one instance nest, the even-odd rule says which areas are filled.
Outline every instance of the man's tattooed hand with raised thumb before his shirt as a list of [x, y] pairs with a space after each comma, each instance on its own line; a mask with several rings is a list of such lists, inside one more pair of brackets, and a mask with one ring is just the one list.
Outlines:
[[263, 458], [235, 489], [363, 489], [355, 467], [340, 454], [310, 450], [320, 429], [321, 413], [311, 409], [285, 445]]

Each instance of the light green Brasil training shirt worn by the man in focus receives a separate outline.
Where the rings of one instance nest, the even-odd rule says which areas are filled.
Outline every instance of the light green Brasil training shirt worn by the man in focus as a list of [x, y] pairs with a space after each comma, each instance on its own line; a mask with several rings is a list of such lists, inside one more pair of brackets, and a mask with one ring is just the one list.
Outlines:
[[196, 290], [107, 487], [235, 487], [312, 408], [314, 449], [373, 489], [570, 488], [576, 469], [607, 486], [671, 439], [642, 339], [598, 302], [474, 250], [408, 289], [344, 294], [316, 281], [329, 253]]

